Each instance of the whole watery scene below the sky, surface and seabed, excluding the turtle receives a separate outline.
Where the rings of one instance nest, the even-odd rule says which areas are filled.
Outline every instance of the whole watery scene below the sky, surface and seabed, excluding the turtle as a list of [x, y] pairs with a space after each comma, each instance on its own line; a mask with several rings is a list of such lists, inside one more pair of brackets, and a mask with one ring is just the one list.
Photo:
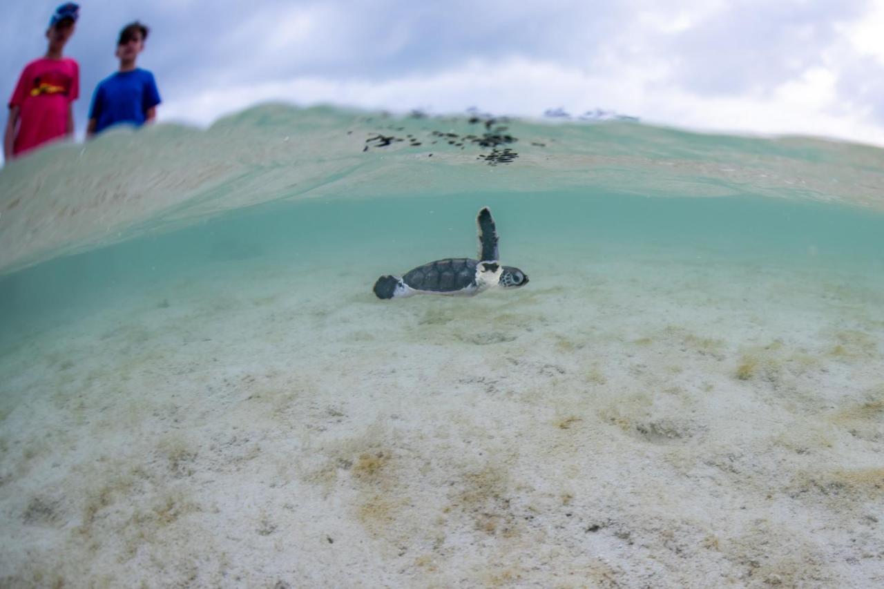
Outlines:
[[[0, 585], [884, 585], [884, 150], [264, 104], [0, 171]], [[381, 300], [482, 257], [530, 277]]]

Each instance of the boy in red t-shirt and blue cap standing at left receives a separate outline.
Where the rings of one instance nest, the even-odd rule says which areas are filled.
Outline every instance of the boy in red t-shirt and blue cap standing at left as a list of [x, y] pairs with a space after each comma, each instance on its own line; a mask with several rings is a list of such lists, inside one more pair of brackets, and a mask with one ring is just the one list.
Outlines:
[[80, 7], [62, 4], [46, 31], [45, 57], [25, 66], [9, 101], [4, 135], [4, 157], [19, 157], [53, 139], [73, 134], [72, 103], [80, 96], [80, 66], [62, 51], [71, 38]]

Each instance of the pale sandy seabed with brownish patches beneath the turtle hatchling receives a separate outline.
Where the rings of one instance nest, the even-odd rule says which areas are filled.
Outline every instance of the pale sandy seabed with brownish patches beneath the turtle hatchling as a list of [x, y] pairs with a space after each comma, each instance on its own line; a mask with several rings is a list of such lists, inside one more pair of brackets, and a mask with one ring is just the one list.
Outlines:
[[217, 264], [23, 340], [0, 585], [884, 585], [880, 282], [519, 265], [378, 302]]

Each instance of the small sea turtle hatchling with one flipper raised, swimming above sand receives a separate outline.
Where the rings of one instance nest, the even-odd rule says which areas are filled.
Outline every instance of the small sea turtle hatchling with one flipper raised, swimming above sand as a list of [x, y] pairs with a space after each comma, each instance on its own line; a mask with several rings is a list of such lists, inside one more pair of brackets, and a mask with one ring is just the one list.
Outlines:
[[386, 274], [375, 282], [379, 299], [398, 299], [411, 295], [472, 296], [490, 287], [523, 287], [528, 275], [513, 266], [498, 262], [498, 236], [492, 211], [479, 210], [479, 259], [449, 257], [418, 266], [401, 278]]

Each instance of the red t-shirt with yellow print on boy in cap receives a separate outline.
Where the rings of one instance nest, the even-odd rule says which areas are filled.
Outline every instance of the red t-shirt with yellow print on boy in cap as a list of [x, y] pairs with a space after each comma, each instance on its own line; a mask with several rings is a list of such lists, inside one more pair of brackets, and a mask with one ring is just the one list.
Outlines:
[[19, 132], [12, 153], [19, 155], [64, 137], [70, 104], [80, 96], [80, 65], [70, 57], [34, 59], [25, 66], [9, 100], [18, 106]]

